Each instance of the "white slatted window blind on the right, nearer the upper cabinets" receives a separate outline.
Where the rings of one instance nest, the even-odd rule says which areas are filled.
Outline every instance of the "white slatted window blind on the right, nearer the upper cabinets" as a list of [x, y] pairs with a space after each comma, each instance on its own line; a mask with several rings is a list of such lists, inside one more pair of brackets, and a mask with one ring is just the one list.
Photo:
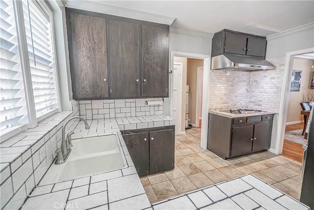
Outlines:
[[49, 16], [32, 1], [23, 0], [28, 57], [36, 117], [58, 108], [57, 84]]

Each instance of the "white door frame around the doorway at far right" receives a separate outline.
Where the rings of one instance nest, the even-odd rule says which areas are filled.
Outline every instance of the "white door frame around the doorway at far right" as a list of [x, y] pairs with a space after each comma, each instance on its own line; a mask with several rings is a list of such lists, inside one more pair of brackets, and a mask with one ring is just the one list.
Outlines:
[[[307, 48], [303, 50], [291, 51], [286, 53], [286, 61], [284, 68], [284, 77], [283, 77], [283, 86], [281, 91], [280, 98], [280, 108], [278, 115], [278, 124], [275, 129], [276, 138], [275, 138], [275, 148], [270, 150], [276, 154], [281, 154], [283, 152], [284, 147], [284, 138], [285, 138], [285, 128], [286, 128], [286, 120], [288, 115], [288, 103], [289, 103], [289, 94], [290, 94], [290, 81], [291, 81], [291, 73], [293, 68], [293, 59], [296, 55], [312, 53], [314, 51], [313, 48]], [[273, 128], [274, 134], [274, 128]]]

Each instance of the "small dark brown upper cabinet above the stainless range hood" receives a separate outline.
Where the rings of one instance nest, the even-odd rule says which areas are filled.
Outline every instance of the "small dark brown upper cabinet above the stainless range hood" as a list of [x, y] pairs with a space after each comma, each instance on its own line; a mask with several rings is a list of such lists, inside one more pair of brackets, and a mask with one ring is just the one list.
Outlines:
[[266, 37], [234, 30], [221, 30], [212, 38], [211, 56], [236, 54], [252, 58], [265, 59]]

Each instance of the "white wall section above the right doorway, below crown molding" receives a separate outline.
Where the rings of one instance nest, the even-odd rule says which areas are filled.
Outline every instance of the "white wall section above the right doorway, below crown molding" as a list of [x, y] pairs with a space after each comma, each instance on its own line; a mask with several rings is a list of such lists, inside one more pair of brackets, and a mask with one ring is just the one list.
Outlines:
[[286, 56], [287, 52], [314, 48], [314, 23], [267, 36], [266, 59]]

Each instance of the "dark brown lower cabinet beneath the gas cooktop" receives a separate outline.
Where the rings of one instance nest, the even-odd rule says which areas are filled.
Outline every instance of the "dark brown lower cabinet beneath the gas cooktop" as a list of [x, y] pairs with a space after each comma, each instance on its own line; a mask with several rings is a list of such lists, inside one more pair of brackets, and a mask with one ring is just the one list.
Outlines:
[[209, 113], [207, 148], [223, 159], [270, 148], [273, 115], [228, 118]]

